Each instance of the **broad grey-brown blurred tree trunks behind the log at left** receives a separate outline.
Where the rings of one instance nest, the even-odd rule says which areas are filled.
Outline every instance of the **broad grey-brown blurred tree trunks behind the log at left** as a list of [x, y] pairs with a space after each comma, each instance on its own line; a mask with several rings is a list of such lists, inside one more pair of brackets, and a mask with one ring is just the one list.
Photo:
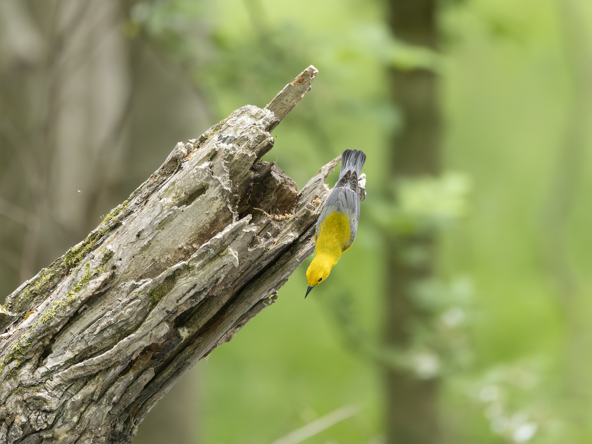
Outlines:
[[[209, 126], [173, 65], [126, 38], [126, 15], [114, 0], [0, 2], [0, 303]], [[195, 442], [194, 411], [158, 408], [148, 427]]]

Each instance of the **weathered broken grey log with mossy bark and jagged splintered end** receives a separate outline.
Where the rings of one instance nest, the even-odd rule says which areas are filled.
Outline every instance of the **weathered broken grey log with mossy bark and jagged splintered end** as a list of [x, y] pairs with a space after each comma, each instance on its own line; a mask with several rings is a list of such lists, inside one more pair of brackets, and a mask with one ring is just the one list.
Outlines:
[[9, 295], [0, 442], [130, 442], [188, 368], [274, 303], [314, 249], [339, 158], [300, 193], [259, 159], [316, 73], [177, 144], [83, 242]]

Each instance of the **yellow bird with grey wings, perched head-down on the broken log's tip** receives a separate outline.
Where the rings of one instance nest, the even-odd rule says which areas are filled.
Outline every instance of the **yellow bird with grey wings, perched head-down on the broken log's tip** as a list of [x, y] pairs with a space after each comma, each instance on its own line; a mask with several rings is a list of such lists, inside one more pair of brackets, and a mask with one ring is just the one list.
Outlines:
[[340, 256], [352, 246], [360, 215], [358, 176], [364, 162], [366, 155], [359, 150], [345, 150], [341, 155], [339, 179], [325, 202], [314, 232], [315, 254], [306, 271], [308, 289], [304, 297], [327, 279]]

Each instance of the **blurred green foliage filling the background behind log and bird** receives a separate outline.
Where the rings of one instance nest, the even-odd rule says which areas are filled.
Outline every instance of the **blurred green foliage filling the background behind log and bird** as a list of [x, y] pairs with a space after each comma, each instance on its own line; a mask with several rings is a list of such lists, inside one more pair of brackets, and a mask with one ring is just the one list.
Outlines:
[[[131, 12], [130, 36], [145, 33], [184, 67], [217, 118], [246, 102], [263, 106], [304, 67], [319, 69], [268, 155], [298, 185], [345, 148], [368, 155], [356, 245], [329, 282], [304, 301], [303, 264], [276, 304], [200, 364], [204, 442], [272, 442], [348, 404], [362, 413], [307, 442], [382, 442], [377, 362], [442, 377], [446, 442], [589, 442], [592, 356], [589, 348], [570, 353], [569, 343], [592, 339], [590, 175], [564, 197], [576, 202], [565, 226], [546, 227], [545, 209], [554, 177], [566, 173], [557, 159], [578, 94], [565, 59], [565, 8], [588, 25], [590, 8], [576, 0], [445, 2], [439, 54], [394, 40], [383, 8], [176, 0]], [[388, 99], [390, 66], [441, 75], [448, 172], [439, 178], [387, 176], [386, 141], [404, 125]], [[587, 172], [590, 160], [580, 168]], [[434, 230], [442, 278], [413, 294], [436, 321], [414, 326], [410, 349], [381, 349], [382, 233]], [[577, 279], [568, 304], [544, 259], [559, 254], [544, 251], [554, 230], [565, 234], [561, 254]], [[401, 251], [409, 260], [422, 254]]]

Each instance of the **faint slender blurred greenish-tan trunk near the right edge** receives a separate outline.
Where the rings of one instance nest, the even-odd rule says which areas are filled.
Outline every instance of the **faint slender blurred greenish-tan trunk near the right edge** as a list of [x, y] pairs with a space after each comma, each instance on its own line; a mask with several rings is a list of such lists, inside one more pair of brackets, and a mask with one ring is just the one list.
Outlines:
[[570, 223], [592, 136], [592, 34], [585, 2], [561, 0], [558, 6], [573, 92], [546, 202], [541, 244], [563, 308], [565, 405], [562, 410], [569, 416], [568, 422], [573, 424], [568, 433], [577, 436], [582, 430], [590, 430], [592, 330], [590, 298], [582, 288], [571, 259]]

